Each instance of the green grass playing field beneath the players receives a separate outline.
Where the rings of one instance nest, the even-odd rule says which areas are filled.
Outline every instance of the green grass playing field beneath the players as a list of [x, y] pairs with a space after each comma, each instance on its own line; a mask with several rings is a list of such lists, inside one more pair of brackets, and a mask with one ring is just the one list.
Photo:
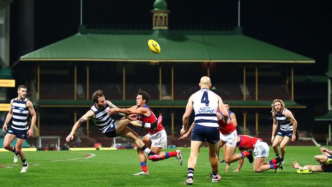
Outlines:
[[[271, 149], [271, 148], [270, 148]], [[189, 148], [183, 151], [183, 166], [170, 158], [148, 161], [149, 176], [133, 176], [140, 170], [135, 150], [114, 151], [36, 151], [26, 152], [30, 165], [28, 173], [19, 173], [21, 162], [13, 163], [14, 154], [0, 152], [0, 186], [183, 186], [187, 176]], [[86, 159], [85, 153], [96, 156]], [[195, 186], [331, 186], [332, 173], [297, 174], [291, 161], [300, 165], [316, 165], [314, 155], [319, 147], [287, 147], [286, 163], [279, 174], [274, 170], [255, 173], [253, 165], [245, 160], [239, 173], [225, 173], [226, 164], [220, 164], [222, 177], [218, 183], [207, 178], [211, 172], [207, 148], [202, 148], [194, 173]], [[273, 150], [269, 159], [273, 158]], [[58, 161], [56, 161], [58, 160]], [[268, 159], [267, 159], [268, 160]], [[232, 163], [233, 171], [238, 162]], [[7, 184], [6, 184], [7, 183]]]

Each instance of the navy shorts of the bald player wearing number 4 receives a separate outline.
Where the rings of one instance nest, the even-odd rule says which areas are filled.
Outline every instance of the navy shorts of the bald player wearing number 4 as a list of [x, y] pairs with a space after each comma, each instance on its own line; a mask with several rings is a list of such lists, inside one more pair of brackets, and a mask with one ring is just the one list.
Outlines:
[[192, 141], [209, 142], [216, 144], [220, 141], [219, 127], [206, 127], [203, 125], [194, 125], [192, 132]]

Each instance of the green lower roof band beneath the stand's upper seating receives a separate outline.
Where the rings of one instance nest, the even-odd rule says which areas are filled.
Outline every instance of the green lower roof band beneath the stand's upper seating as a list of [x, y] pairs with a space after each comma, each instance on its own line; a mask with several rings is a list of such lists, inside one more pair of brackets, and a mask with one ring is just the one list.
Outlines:
[[[149, 107], [158, 108], [185, 108], [187, 100], [150, 100]], [[271, 101], [227, 101], [231, 103], [232, 108], [271, 108]], [[38, 105], [40, 107], [90, 107], [93, 102], [90, 100], [39, 100]], [[131, 107], [135, 104], [135, 100], [112, 100], [112, 103], [118, 107]], [[306, 106], [300, 105], [294, 101], [284, 101], [288, 108], [306, 108]]]

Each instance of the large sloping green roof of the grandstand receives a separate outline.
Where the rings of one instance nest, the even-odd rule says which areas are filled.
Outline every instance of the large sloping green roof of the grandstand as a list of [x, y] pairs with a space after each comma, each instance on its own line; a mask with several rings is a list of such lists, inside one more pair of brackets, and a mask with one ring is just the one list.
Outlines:
[[[314, 59], [244, 36], [237, 31], [93, 30], [45, 46], [20, 61], [273, 62], [315, 63]], [[148, 50], [149, 39], [161, 46]]]

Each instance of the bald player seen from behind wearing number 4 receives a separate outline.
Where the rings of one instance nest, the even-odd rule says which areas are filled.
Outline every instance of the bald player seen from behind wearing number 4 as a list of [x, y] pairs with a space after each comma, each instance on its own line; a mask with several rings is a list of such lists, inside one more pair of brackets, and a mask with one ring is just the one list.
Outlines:
[[189, 117], [195, 111], [195, 125], [193, 126], [191, 139], [191, 154], [188, 159], [188, 171], [185, 184], [193, 184], [194, 169], [198, 153], [203, 142], [207, 142], [209, 147], [209, 157], [212, 168], [212, 182], [218, 182], [219, 159], [217, 155], [219, 138], [219, 125], [217, 109], [219, 108], [228, 123], [228, 112], [222, 99], [210, 89], [211, 81], [208, 77], [202, 77], [199, 83], [200, 90], [195, 92], [189, 99], [182, 117], [183, 127], [180, 131], [181, 136], [186, 132]]

